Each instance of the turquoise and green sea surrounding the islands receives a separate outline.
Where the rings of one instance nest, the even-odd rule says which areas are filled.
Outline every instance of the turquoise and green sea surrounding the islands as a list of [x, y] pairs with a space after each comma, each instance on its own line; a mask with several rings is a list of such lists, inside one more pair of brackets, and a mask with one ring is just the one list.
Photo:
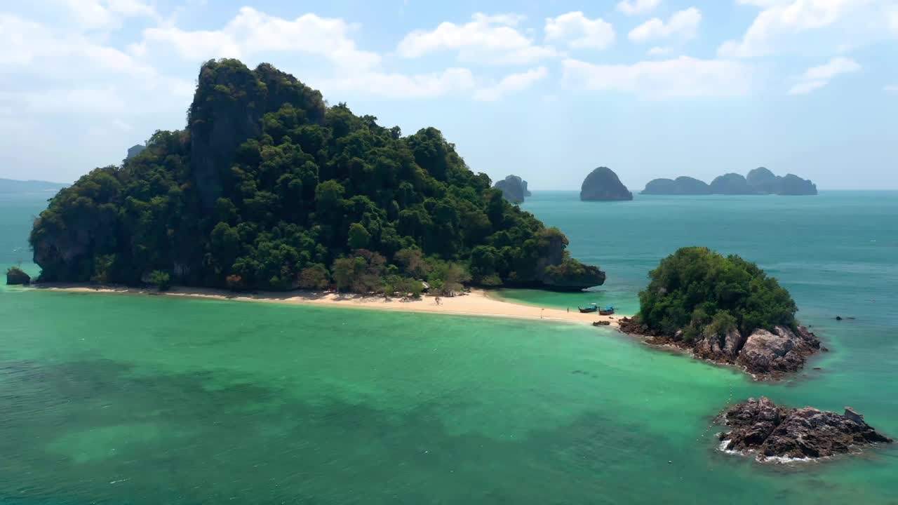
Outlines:
[[[37, 273], [45, 199], [0, 197], [0, 264]], [[898, 503], [898, 447], [761, 465], [712, 421], [766, 394], [898, 438], [898, 192], [524, 208], [608, 280], [500, 296], [633, 312], [658, 260], [707, 245], [778, 277], [832, 352], [761, 384], [601, 328], [2, 286], [0, 504]]]

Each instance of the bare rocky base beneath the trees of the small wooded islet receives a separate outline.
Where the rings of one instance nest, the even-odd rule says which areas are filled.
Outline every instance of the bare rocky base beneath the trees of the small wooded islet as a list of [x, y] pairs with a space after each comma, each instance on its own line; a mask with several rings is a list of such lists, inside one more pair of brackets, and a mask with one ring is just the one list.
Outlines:
[[682, 332], [674, 336], [649, 331], [638, 317], [623, 318], [621, 331], [649, 337], [657, 345], [689, 350], [693, 357], [715, 363], [737, 365], [758, 379], [775, 379], [805, 367], [807, 359], [821, 350], [820, 340], [806, 327], [797, 332], [777, 326], [773, 332], [755, 330], [745, 336], [736, 329], [725, 334], [700, 335], [687, 341]]

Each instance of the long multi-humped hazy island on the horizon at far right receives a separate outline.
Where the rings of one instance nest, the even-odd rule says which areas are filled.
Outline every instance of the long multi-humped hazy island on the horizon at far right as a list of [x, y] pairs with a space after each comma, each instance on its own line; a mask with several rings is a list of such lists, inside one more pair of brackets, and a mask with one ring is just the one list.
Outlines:
[[738, 173], [725, 173], [710, 184], [692, 177], [655, 179], [641, 191], [645, 195], [815, 195], [814, 182], [788, 173], [775, 175], [770, 170], [759, 167], [744, 177]]

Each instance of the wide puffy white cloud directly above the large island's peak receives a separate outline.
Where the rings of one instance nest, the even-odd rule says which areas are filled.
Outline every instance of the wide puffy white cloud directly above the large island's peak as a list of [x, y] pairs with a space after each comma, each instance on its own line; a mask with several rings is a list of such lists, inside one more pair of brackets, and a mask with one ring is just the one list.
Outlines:
[[339, 18], [307, 13], [291, 21], [242, 7], [217, 31], [183, 31], [174, 26], [149, 28], [144, 31], [144, 40], [132, 46], [131, 51], [145, 56], [160, 46], [168, 47], [181, 58], [194, 62], [295, 52], [326, 58], [335, 65], [354, 70], [378, 65], [378, 54], [357, 49], [349, 38], [352, 29], [352, 25]]

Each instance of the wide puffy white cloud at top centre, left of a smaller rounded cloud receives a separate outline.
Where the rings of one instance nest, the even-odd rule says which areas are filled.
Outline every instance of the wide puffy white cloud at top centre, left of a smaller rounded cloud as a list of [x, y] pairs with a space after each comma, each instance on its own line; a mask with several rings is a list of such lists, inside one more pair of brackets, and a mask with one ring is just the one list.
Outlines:
[[417, 30], [406, 35], [397, 51], [404, 58], [456, 50], [462, 61], [524, 65], [556, 56], [555, 49], [537, 46], [518, 31], [523, 16], [515, 14], [487, 15], [475, 13], [471, 22], [440, 23], [432, 31]]

